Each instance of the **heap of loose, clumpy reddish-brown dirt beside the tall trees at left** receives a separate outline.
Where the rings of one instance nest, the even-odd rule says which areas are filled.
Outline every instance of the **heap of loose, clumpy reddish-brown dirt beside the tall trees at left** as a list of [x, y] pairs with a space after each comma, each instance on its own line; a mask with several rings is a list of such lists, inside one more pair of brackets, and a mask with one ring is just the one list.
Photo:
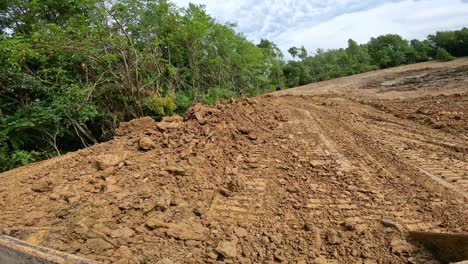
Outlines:
[[[184, 260], [188, 252], [191, 259], [235, 259], [237, 242], [221, 241], [234, 237], [207, 214], [214, 196], [245, 188], [238, 164], [254, 162], [249, 148], [278, 120], [268, 102], [249, 99], [121, 124], [114, 140], [18, 175], [14, 190], [2, 188], [2, 227], [112, 263]], [[8, 217], [18, 210], [23, 215]]]

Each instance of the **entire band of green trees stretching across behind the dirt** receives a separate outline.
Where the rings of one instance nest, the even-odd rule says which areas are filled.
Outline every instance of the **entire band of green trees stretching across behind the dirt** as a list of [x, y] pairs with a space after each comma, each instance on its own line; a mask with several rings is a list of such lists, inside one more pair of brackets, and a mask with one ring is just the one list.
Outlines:
[[467, 31], [410, 43], [396, 35], [350, 40], [347, 49], [314, 55], [292, 48], [286, 62], [275, 43], [252, 43], [201, 5], [4, 0], [0, 171], [108, 140], [122, 121], [182, 114], [194, 102], [465, 56]]

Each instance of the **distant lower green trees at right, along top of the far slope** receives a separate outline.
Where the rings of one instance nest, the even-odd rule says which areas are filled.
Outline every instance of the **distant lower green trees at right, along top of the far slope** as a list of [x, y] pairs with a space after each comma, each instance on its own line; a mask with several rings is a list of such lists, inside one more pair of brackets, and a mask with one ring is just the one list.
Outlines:
[[387, 34], [361, 45], [350, 39], [345, 49], [318, 49], [313, 55], [304, 47], [292, 47], [288, 52], [294, 60], [282, 70], [285, 84], [295, 87], [377, 69], [468, 56], [468, 28], [437, 32], [423, 41]]

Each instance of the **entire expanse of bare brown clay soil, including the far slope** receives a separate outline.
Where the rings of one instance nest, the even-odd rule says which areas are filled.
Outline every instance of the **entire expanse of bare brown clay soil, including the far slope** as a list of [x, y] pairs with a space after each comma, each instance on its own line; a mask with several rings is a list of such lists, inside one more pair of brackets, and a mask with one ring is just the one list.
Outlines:
[[0, 174], [0, 228], [103, 263], [439, 263], [468, 232], [468, 60], [123, 124]]

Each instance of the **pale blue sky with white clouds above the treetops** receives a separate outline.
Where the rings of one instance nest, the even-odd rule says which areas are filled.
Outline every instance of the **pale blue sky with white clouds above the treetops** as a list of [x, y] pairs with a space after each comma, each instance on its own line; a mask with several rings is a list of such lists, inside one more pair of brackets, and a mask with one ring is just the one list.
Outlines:
[[393, 33], [424, 39], [436, 31], [468, 27], [468, 0], [172, 0], [203, 4], [218, 22], [237, 24], [254, 42], [266, 38], [286, 53], [345, 48]]

